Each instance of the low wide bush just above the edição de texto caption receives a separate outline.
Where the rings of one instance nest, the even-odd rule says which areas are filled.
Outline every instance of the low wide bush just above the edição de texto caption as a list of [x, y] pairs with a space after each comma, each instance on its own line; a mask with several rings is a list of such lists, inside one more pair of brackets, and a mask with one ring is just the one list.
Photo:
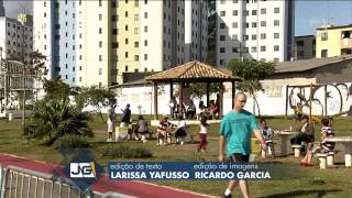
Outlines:
[[148, 158], [153, 157], [150, 150], [144, 147], [131, 147], [127, 145], [108, 145], [102, 148], [103, 157], [121, 157], [121, 158]]

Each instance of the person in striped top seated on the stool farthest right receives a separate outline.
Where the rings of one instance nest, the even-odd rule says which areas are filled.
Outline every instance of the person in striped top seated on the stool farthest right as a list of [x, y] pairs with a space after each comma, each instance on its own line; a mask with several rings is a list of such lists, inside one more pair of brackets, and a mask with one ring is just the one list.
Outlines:
[[320, 147], [318, 147], [318, 148], [312, 148], [312, 146], [310, 146], [310, 148], [308, 147], [308, 151], [307, 151], [305, 158], [302, 158], [299, 163], [301, 166], [314, 166], [314, 164], [311, 164], [312, 154], [318, 151], [320, 151], [320, 153], [329, 153], [329, 152], [333, 151], [334, 143], [327, 142], [324, 140], [327, 136], [334, 136], [334, 132], [333, 132], [333, 129], [331, 128], [331, 125], [329, 124], [329, 119], [324, 118], [321, 120]]

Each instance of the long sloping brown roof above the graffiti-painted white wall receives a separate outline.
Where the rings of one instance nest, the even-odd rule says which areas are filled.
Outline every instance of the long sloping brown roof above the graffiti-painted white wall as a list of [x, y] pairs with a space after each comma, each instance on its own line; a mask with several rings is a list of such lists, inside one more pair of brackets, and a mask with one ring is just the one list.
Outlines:
[[276, 65], [275, 73], [296, 73], [304, 72], [321, 66], [340, 63], [344, 61], [352, 59], [352, 55], [326, 57], [326, 58], [312, 58], [312, 59], [301, 59], [297, 62], [282, 62]]

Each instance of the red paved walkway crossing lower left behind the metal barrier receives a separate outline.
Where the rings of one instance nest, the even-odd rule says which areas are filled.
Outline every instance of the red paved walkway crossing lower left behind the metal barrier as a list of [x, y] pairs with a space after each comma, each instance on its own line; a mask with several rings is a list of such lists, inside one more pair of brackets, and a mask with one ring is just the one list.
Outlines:
[[[53, 174], [63, 169], [62, 166], [47, 164], [43, 162], [37, 162], [29, 158], [19, 157], [15, 155], [9, 155], [0, 153], [0, 164], [3, 167], [8, 165], [13, 165], [18, 167], [23, 167], [26, 169], [32, 169], [41, 173]], [[138, 180], [123, 180], [114, 182], [110, 180], [107, 175], [101, 176], [98, 182], [94, 185], [94, 190], [99, 193], [114, 191], [123, 195], [129, 195], [133, 197], [153, 197], [153, 198], [204, 198], [208, 197], [206, 195], [195, 194], [185, 190], [178, 190], [169, 187], [157, 186], [153, 184], [142, 183]]]

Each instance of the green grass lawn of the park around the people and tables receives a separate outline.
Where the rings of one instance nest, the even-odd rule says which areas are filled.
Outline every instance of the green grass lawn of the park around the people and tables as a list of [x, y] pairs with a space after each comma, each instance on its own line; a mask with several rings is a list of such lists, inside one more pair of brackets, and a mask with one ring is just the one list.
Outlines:
[[[283, 118], [268, 118], [267, 123], [274, 129], [288, 129], [292, 125], [290, 120]], [[99, 117], [95, 117], [90, 122], [96, 136], [89, 139], [91, 151], [98, 157], [98, 162], [103, 165], [108, 161], [145, 161], [127, 158], [103, 158], [99, 151], [107, 145], [106, 123]], [[141, 144], [136, 141], [127, 141], [122, 144], [131, 146], [144, 146], [154, 154], [153, 158], [147, 161], [217, 161], [218, 154], [218, 129], [219, 124], [212, 124], [208, 136], [208, 151], [206, 154], [196, 152], [197, 144], [185, 144], [184, 146], [156, 146], [156, 141], [148, 141]], [[319, 127], [316, 128], [316, 136], [319, 140]], [[190, 130], [196, 134], [198, 128], [191, 127]], [[339, 118], [334, 120], [336, 135], [352, 135], [352, 119]], [[61, 164], [63, 157], [58, 151], [36, 145], [33, 142], [23, 140], [21, 132], [21, 120], [0, 120], [0, 152], [14, 154], [37, 161]], [[197, 140], [197, 139], [196, 139]], [[279, 138], [275, 138], [277, 143], [275, 150], [279, 153]], [[289, 150], [288, 150], [289, 151]], [[320, 170], [316, 167], [300, 167], [299, 160], [292, 155], [279, 158], [258, 160], [263, 163], [275, 163], [277, 167], [285, 169], [288, 178], [278, 180], [251, 180], [250, 190], [253, 197], [351, 197], [352, 195], [352, 169], [343, 166], [343, 147], [337, 145], [338, 154], [336, 156], [337, 165], [333, 168]], [[317, 162], [316, 162], [317, 164]], [[193, 190], [212, 196], [221, 196], [226, 189], [227, 182], [219, 180], [194, 180], [194, 182], [164, 182], [153, 180], [155, 184], [173, 186], [180, 189]], [[234, 197], [240, 196], [238, 189]]]

